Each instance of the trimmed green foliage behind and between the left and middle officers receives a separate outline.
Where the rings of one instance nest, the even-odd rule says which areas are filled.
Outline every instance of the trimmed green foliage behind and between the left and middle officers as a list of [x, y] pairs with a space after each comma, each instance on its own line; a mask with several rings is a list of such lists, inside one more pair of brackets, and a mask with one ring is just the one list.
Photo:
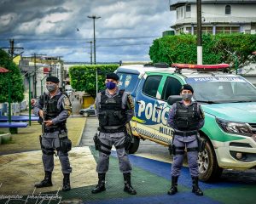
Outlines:
[[113, 72], [119, 65], [74, 65], [69, 68], [72, 88], [84, 91], [96, 97], [96, 69], [98, 71], [98, 90], [105, 88], [105, 78], [108, 72]]

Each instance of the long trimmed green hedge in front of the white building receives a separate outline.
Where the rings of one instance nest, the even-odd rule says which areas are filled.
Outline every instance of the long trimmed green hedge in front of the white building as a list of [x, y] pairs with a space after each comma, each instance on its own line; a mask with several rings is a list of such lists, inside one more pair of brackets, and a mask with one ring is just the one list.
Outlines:
[[[228, 63], [239, 67], [253, 59], [256, 50], [256, 35], [220, 34], [203, 35], [203, 64]], [[196, 64], [196, 36], [179, 35], [155, 39], [149, 48], [150, 59], [156, 62]]]

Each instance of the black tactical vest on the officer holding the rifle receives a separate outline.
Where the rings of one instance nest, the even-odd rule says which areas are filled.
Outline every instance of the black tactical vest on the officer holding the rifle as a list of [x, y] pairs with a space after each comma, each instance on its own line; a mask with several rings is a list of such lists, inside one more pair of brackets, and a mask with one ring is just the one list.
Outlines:
[[[57, 108], [58, 100], [61, 98], [63, 94], [55, 95], [53, 98], [50, 99], [48, 94], [44, 94], [43, 97], [40, 99], [40, 105], [44, 107], [44, 101], [45, 101], [45, 107], [46, 107], [46, 115], [44, 116], [44, 120], [52, 120], [56, 116], [58, 116], [61, 111], [63, 111], [63, 108], [60, 109]], [[44, 99], [45, 97], [45, 99]], [[56, 125], [52, 125], [51, 127], [65, 127], [67, 120], [60, 122]]]

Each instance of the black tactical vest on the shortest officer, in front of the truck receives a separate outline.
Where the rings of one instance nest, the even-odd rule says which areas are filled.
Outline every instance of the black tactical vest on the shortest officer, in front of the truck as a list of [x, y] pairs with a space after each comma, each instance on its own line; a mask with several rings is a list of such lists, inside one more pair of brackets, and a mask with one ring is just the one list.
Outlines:
[[177, 110], [174, 116], [174, 124], [180, 131], [197, 130], [200, 122], [199, 108], [196, 103], [184, 106], [177, 102]]

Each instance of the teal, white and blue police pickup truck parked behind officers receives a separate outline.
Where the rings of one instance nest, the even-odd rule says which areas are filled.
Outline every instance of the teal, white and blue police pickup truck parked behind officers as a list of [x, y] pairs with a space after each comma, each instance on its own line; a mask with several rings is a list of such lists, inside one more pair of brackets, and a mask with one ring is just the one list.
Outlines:
[[130, 92], [135, 102], [131, 153], [137, 151], [139, 139], [172, 144], [173, 129], [167, 126], [172, 104], [168, 99], [177, 97], [182, 85], [189, 83], [195, 90], [194, 100], [205, 112], [200, 135], [207, 139], [207, 145], [199, 156], [201, 180], [218, 178], [224, 168], [256, 168], [256, 88], [243, 77], [216, 67], [207, 71], [205, 66], [189, 66], [187, 70], [161, 65], [117, 69], [120, 88]]

